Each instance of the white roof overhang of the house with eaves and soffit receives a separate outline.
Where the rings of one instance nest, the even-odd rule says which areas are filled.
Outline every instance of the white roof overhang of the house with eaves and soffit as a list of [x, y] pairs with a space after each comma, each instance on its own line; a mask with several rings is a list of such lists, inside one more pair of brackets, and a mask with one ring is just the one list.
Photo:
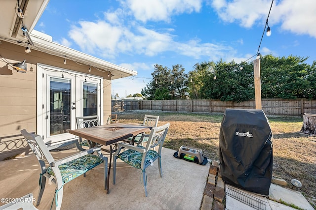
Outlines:
[[17, 15], [18, 0], [1, 0], [0, 39], [25, 46], [26, 41], [24, 39], [23, 31], [21, 30], [22, 27], [25, 27], [33, 42], [34, 50], [58, 56], [63, 59], [66, 56], [69, 60], [91, 65], [101, 70], [110, 71], [112, 74], [111, 79], [137, 75], [136, 71], [129, 70], [58, 43], [54, 43], [51, 36], [34, 30], [34, 27], [39, 21], [48, 2], [49, 0], [19, 0], [19, 6], [25, 16], [22, 23], [22, 19]]

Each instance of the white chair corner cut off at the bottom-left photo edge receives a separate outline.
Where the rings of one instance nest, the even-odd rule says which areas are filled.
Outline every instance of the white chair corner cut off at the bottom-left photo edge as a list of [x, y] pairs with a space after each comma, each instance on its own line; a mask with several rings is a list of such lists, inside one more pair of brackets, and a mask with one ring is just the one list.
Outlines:
[[21, 198], [13, 199], [10, 203], [0, 206], [0, 210], [38, 210], [33, 205], [33, 193], [29, 193]]

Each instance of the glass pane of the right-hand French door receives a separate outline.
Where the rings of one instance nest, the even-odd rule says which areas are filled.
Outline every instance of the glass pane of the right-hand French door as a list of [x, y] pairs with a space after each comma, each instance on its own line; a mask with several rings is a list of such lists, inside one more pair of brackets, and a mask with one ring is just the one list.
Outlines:
[[83, 116], [97, 115], [98, 97], [96, 83], [83, 83]]

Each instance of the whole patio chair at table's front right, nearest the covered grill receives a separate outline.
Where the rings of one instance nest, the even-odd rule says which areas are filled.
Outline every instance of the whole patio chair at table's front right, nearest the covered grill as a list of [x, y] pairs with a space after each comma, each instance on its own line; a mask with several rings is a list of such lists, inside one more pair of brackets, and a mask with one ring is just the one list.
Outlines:
[[[134, 146], [129, 143], [120, 143], [118, 144], [118, 150], [113, 154], [113, 184], [115, 184], [116, 176], [116, 165], [117, 158], [121, 159], [125, 163], [140, 169], [142, 171], [141, 176], [143, 176], [145, 197], [147, 197], [147, 176], [146, 168], [152, 165], [152, 163], [158, 159], [158, 169], [160, 177], [162, 177], [161, 170], [161, 149], [166, 134], [168, 132], [170, 123], [165, 125], [152, 128], [149, 135], [143, 134], [141, 138], [145, 136], [148, 137], [148, 142], [146, 148], [143, 146]], [[154, 150], [158, 146], [158, 151]], [[123, 152], [119, 153], [121, 149], [126, 148]]]

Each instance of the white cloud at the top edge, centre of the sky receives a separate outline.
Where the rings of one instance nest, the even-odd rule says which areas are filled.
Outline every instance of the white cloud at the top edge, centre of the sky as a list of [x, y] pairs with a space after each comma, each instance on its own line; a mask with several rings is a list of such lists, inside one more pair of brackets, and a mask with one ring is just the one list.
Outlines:
[[170, 21], [172, 15], [198, 12], [202, 0], [127, 0], [126, 5], [137, 20]]

